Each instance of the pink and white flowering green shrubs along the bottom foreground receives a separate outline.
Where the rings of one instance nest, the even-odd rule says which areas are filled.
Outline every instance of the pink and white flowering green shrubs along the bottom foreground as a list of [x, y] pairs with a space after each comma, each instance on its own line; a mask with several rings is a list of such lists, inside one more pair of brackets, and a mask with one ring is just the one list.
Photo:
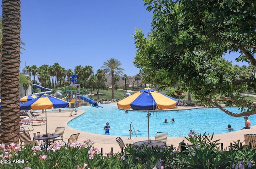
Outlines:
[[186, 150], [176, 152], [173, 146], [148, 147], [126, 145], [124, 153], [105, 153], [94, 148], [88, 138], [83, 142], [53, 143], [48, 149], [37, 146], [0, 144], [1, 169], [248, 169], [256, 168], [256, 150], [239, 147], [239, 141], [228, 150], [220, 150], [213, 134], [206, 136], [190, 131]]

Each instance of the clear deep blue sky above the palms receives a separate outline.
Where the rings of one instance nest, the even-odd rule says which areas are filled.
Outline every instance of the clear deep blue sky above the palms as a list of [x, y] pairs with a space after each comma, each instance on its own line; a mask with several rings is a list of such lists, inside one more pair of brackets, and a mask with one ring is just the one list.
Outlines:
[[[53, 65], [65, 69], [90, 65], [96, 73], [107, 59], [118, 59], [124, 74], [139, 69], [134, 29], [150, 31], [152, 13], [142, 0], [21, 0], [20, 70], [26, 65]], [[233, 62], [236, 55], [228, 60]], [[227, 58], [227, 57], [225, 57]], [[237, 64], [237, 63], [236, 63]], [[245, 63], [240, 63], [243, 65]]]

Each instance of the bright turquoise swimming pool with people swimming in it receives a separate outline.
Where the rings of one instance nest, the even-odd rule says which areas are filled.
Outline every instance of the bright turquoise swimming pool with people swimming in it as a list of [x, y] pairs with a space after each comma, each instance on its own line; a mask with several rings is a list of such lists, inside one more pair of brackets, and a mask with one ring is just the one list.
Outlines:
[[[77, 110], [85, 110], [86, 112], [77, 118], [68, 122], [68, 126], [76, 130], [90, 132], [94, 134], [105, 135], [103, 128], [106, 122], [111, 127], [111, 136], [127, 136], [130, 137], [130, 123], [134, 130], [140, 130], [136, 135], [138, 137], [148, 137], [148, 118], [147, 112], [119, 110], [114, 104], [101, 104], [103, 108], [95, 108], [92, 106], [82, 106]], [[238, 108], [227, 108], [232, 112], [240, 112]], [[174, 118], [175, 122], [170, 120]], [[164, 123], [164, 119], [168, 123]], [[256, 115], [249, 116], [252, 126]], [[226, 127], [231, 124], [233, 131], [240, 130], [244, 127], [244, 117], [232, 117], [218, 108], [200, 108], [193, 110], [178, 111], [161, 111], [151, 112], [149, 118], [150, 137], [154, 137], [156, 132], [167, 132], [168, 137], [188, 136], [190, 130], [196, 130], [198, 133], [204, 134], [222, 134], [232, 132]], [[132, 128], [133, 130], [133, 128]], [[134, 137], [135, 134], [132, 134]]]

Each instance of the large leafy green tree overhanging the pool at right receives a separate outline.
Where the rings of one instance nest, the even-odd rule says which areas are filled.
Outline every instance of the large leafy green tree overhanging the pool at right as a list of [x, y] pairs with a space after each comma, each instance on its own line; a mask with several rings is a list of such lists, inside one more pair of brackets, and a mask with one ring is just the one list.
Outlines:
[[[256, 106], [240, 98], [254, 90], [256, 60], [255, 0], [144, 0], [153, 11], [152, 32], [147, 37], [136, 29], [134, 65], [144, 79], [169, 87], [181, 83], [200, 102], [213, 104], [231, 116], [256, 114]], [[224, 53], [240, 52], [232, 66]], [[243, 113], [220, 106], [235, 104]], [[244, 109], [246, 108], [246, 109]]]

